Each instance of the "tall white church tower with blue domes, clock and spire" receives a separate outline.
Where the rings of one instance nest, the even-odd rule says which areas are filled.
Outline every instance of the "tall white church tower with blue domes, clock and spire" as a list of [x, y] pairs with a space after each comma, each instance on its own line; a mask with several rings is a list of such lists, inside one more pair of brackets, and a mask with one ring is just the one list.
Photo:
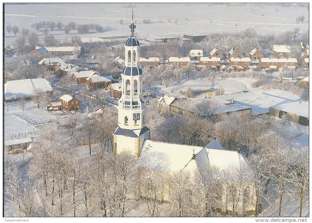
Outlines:
[[131, 36], [125, 43], [125, 66], [122, 69], [122, 95], [118, 101], [118, 127], [115, 130], [114, 153], [128, 150], [140, 155], [144, 140], [150, 138], [146, 126], [146, 103], [142, 96], [142, 69], [139, 67], [139, 41], [134, 37], [135, 25], [129, 26]]

